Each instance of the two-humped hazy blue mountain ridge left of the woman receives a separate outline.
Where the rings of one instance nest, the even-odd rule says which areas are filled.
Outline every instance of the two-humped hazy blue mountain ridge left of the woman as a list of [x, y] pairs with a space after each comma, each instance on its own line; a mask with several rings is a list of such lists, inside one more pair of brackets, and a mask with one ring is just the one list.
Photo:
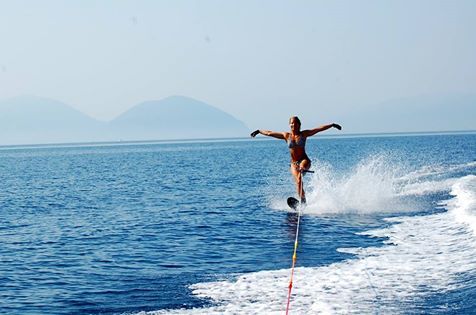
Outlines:
[[225, 138], [248, 133], [233, 116], [183, 96], [141, 103], [111, 122], [46, 98], [21, 96], [0, 102], [0, 145]]

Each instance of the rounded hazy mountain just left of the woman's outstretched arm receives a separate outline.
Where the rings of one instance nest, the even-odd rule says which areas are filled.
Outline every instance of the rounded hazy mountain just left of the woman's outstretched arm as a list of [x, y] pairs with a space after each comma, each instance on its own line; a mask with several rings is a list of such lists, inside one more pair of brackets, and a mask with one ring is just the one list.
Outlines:
[[171, 96], [141, 103], [110, 122], [122, 140], [243, 137], [245, 124], [198, 100]]

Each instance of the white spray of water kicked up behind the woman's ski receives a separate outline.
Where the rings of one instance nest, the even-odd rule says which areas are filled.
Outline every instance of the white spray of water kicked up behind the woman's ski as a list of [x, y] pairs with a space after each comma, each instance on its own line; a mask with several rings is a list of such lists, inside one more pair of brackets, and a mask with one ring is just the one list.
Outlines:
[[[449, 192], [457, 177], [448, 178], [448, 174], [475, 166], [475, 162], [470, 162], [450, 166], [425, 165], [414, 170], [408, 169], [390, 154], [378, 154], [363, 159], [343, 173], [336, 171], [329, 163], [316, 160], [313, 162], [315, 173], [304, 177], [307, 197], [305, 214], [419, 211], [422, 206], [419, 197]], [[270, 207], [288, 210], [285, 198], [276, 191], [270, 196]]]

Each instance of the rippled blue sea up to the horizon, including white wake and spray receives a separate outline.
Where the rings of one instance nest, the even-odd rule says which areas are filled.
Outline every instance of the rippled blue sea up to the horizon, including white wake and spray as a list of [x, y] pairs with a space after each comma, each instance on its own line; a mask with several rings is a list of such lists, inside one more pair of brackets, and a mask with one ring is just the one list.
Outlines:
[[[476, 134], [307, 151], [291, 314], [476, 312]], [[284, 142], [4, 147], [0, 161], [1, 313], [284, 313]]]

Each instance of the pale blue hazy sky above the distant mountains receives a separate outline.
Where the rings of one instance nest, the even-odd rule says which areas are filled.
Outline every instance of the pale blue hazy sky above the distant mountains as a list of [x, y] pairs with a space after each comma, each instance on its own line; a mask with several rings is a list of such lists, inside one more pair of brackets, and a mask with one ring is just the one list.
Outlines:
[[474, 0], [0, 0], [0, 99], [101, 120], [185, 95], [279, 128], [475, 87]]

